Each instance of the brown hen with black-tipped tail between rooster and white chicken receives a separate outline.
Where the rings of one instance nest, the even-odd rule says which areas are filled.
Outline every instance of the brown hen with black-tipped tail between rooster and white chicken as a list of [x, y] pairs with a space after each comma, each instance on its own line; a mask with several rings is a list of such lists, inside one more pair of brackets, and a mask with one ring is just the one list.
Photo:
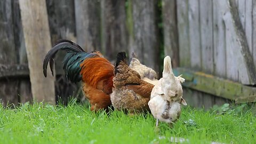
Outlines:
[[125, 52], [117, 54], [113, 83], [110, 99], [115, 110], [130, 114], [149, 111], [148, 101], [154, 85], [142, 81], [137, 71], [127, 65]]

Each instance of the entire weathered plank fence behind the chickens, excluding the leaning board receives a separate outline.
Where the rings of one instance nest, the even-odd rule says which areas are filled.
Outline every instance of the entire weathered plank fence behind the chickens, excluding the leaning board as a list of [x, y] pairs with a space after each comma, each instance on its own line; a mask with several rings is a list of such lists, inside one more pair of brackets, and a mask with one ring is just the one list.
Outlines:
[[[184, 97], [197, 107], [254, 100], [255, 5], [254, 0], [46, 0], [52, 45], [71, 39], [112, 62], [119, 51], [135, 51], [159, 75], [164, 55], [171, 55], [179, 67], [175, 73], [187, 79]], [[0, 99], [31, 101], [19, 1], [3, 0], [0, 8]], [[55, 93], [66, 99], [77, 89], [63, 77], [63, 54], [57, 55]]]

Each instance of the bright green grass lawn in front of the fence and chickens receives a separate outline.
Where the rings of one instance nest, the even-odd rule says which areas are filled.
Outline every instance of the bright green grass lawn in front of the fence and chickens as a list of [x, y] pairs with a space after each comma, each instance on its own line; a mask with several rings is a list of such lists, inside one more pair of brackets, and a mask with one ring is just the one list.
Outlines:
[[87, 106], [67, 107], [35, 103], [19, 108], [0, 105], [0, 143], [170, 143], [170, 137], [190, 143], [255, 143], [256, 118], [242, 114], [182, 108], [172, 127], [146, 116], [129, 116], [121, 111], [92, 113]]

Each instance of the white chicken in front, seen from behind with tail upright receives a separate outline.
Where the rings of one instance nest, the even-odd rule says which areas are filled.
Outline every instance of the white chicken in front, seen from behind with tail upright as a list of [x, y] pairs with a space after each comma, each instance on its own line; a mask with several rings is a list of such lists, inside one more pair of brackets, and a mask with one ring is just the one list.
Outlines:
[[175, 122], [181, 113], [180, 104], [187, 105], [182, 98], [183, 90], [181, 83], [185, 79], [180, 76], [176, 77], [172, 71], [171, 58], [169, 56], [164, 58], [163, 77], [154, 86], [151, 91], [150, 101], [148, 106], [153, 116], [162, 122]]

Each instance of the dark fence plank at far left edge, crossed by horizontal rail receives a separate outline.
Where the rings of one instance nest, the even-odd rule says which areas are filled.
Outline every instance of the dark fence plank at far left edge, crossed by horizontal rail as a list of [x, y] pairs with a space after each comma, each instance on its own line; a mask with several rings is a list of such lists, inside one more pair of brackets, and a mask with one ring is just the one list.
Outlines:
[[[12, 65], [17, 63], [13, 32], [12, 1], [0, 1], [0, 63]], [[2, 79], [0, 81], [0, 99], [7, 103], [18, 104], [17, 79]]]

